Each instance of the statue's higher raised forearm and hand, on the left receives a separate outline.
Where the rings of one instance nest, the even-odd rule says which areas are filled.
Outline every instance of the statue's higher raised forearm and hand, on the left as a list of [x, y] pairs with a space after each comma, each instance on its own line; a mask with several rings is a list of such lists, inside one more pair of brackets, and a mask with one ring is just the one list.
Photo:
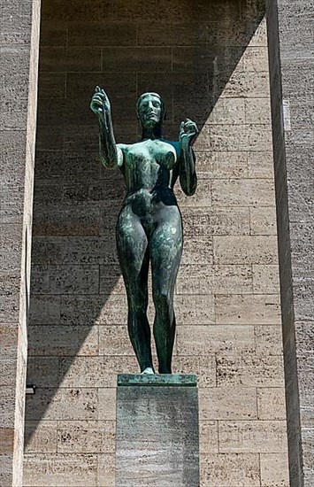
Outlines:
[[123, 152], [117, 146], [111, 121], [111, 104], [105, 91], [96, 86], [90, 103], [99, 123], [99, 155], [103, 166], [120, 167], [123, 165]]

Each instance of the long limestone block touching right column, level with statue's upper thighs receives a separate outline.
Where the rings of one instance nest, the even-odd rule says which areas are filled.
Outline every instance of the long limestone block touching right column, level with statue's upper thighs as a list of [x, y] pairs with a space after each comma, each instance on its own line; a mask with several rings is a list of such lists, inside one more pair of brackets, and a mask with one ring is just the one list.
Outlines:
[[276, 264], [276, 236], [214, 236], [215, 264]]

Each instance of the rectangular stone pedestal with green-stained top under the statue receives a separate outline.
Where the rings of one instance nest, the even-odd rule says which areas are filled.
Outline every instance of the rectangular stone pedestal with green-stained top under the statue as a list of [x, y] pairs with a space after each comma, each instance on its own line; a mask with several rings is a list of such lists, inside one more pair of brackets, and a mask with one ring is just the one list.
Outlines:
[[199, 485], [196, 375], [118, 375], [117, 487]]

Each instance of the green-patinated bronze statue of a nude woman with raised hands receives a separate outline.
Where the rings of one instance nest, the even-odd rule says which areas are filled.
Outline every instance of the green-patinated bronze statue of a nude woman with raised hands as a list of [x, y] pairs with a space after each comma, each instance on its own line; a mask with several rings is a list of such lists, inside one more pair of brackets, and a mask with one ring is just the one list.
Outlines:
[[99, 151], [103, 166], [119, 168], [126, 181], [126, 197], [117, 222], [119, 263], [126, 285], [128, 332], [143, 373], [154, 373], [147, 318], [149, 262], [155, 305], [154, 338], [158, 372], [172, 373], [175, 334], [174, 284], [182, 253], [182, 220], [175, 182], [187, 196], [195, 193], [195, 155], [191, 147], [197, 128], [186, 119], [179, 141], [162, 136], [165, 104], [157, 93], [144, 93], [137, 103], [142, 124], [138, 143], [116, 143], [111, 104], [96, 87], [90, 107], [99, 121]]

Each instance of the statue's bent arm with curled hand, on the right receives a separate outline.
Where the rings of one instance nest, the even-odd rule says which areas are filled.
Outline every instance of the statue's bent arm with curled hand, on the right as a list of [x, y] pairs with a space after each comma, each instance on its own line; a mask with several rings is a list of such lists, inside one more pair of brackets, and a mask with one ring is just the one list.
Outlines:
[[180, 124], [180, 170], [179, 178], [183, 192], [188, 196], [193, 196], [197, 186], [197, 176], [195, 172], [195, 153], [192, 149], [192, 142], [197, 135], [197, 127], [194, 121], [185, 120]]

